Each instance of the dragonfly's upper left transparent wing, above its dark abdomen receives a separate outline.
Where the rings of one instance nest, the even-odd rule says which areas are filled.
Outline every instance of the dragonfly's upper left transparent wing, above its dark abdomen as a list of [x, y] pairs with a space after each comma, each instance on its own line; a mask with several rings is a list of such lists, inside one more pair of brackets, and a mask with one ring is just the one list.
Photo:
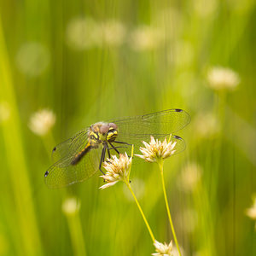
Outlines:
[[[71, 162], [76, 154], [78, 154], [88, 142], [88, 129], [79, 131], [72, 138], [67, 141], [58, 144], [53, 148], [52, 151], [52, 160], [57, 162], [63, 158], [66, 160], [69, 159]], [[66, 162], [61, 162], [61, 165], [65, 165]], [[68, 161], [67, 161], [68, 165]]]

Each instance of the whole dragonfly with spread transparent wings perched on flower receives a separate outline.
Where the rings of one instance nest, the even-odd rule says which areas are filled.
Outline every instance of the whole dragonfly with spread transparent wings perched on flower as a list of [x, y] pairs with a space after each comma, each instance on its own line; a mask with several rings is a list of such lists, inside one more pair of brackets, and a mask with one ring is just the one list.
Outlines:
[[151, 136], [164, 140], [172, 134], [171, 140], [176, 142], [175, 154], [178, 154], [186, 146], [183, 138], [173, 132], [183, 129], [189, 122], [189, 113], [173, 108], [90, 125], [53, 148], [55, 163], [45, 172], [44, 181], [49, 189], [83, 182], [98, 170], [102, 172], [107, 155], [110, 159], [114, 154], [131, 152], [131, 145], [134, 145], [134, 153], [139, 154], [142, 142], [149, 142]]

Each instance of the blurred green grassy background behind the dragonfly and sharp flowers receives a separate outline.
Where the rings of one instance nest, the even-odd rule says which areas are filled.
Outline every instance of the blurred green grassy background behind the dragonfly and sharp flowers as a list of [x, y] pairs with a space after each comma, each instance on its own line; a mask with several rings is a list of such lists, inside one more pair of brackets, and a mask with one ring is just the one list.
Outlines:
[[[154, 253], [123, 183], [99, 190], [98, 172], [51, 190], [44, 172], [80, 129], [168, 108], [192, 119], [186, 150], [165, 162], [183, 255], [255, 255], [253, 0], [0, 3], [1, 256]], [[169, 242], [157, 166], [134, 165], [131, 180]]]

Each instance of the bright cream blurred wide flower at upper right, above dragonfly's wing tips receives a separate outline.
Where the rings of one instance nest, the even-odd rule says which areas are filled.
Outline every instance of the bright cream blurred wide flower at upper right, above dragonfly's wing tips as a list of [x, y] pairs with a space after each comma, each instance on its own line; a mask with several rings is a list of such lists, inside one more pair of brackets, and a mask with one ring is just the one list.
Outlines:
[[207, 80], [214, 90], [234, 90], [240, 83], [239, 75], [228, 67], [212, 67]]

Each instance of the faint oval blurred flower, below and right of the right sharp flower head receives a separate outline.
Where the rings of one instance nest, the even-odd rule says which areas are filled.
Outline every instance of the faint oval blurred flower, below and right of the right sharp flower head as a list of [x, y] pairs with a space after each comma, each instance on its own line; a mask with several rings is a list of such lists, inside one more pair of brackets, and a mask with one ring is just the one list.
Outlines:
[[201, 166], [196, 163], [189, 163], [183, 168], [179, 177], [179, 187], [184, 191], [192, 191], [201, 180]]

